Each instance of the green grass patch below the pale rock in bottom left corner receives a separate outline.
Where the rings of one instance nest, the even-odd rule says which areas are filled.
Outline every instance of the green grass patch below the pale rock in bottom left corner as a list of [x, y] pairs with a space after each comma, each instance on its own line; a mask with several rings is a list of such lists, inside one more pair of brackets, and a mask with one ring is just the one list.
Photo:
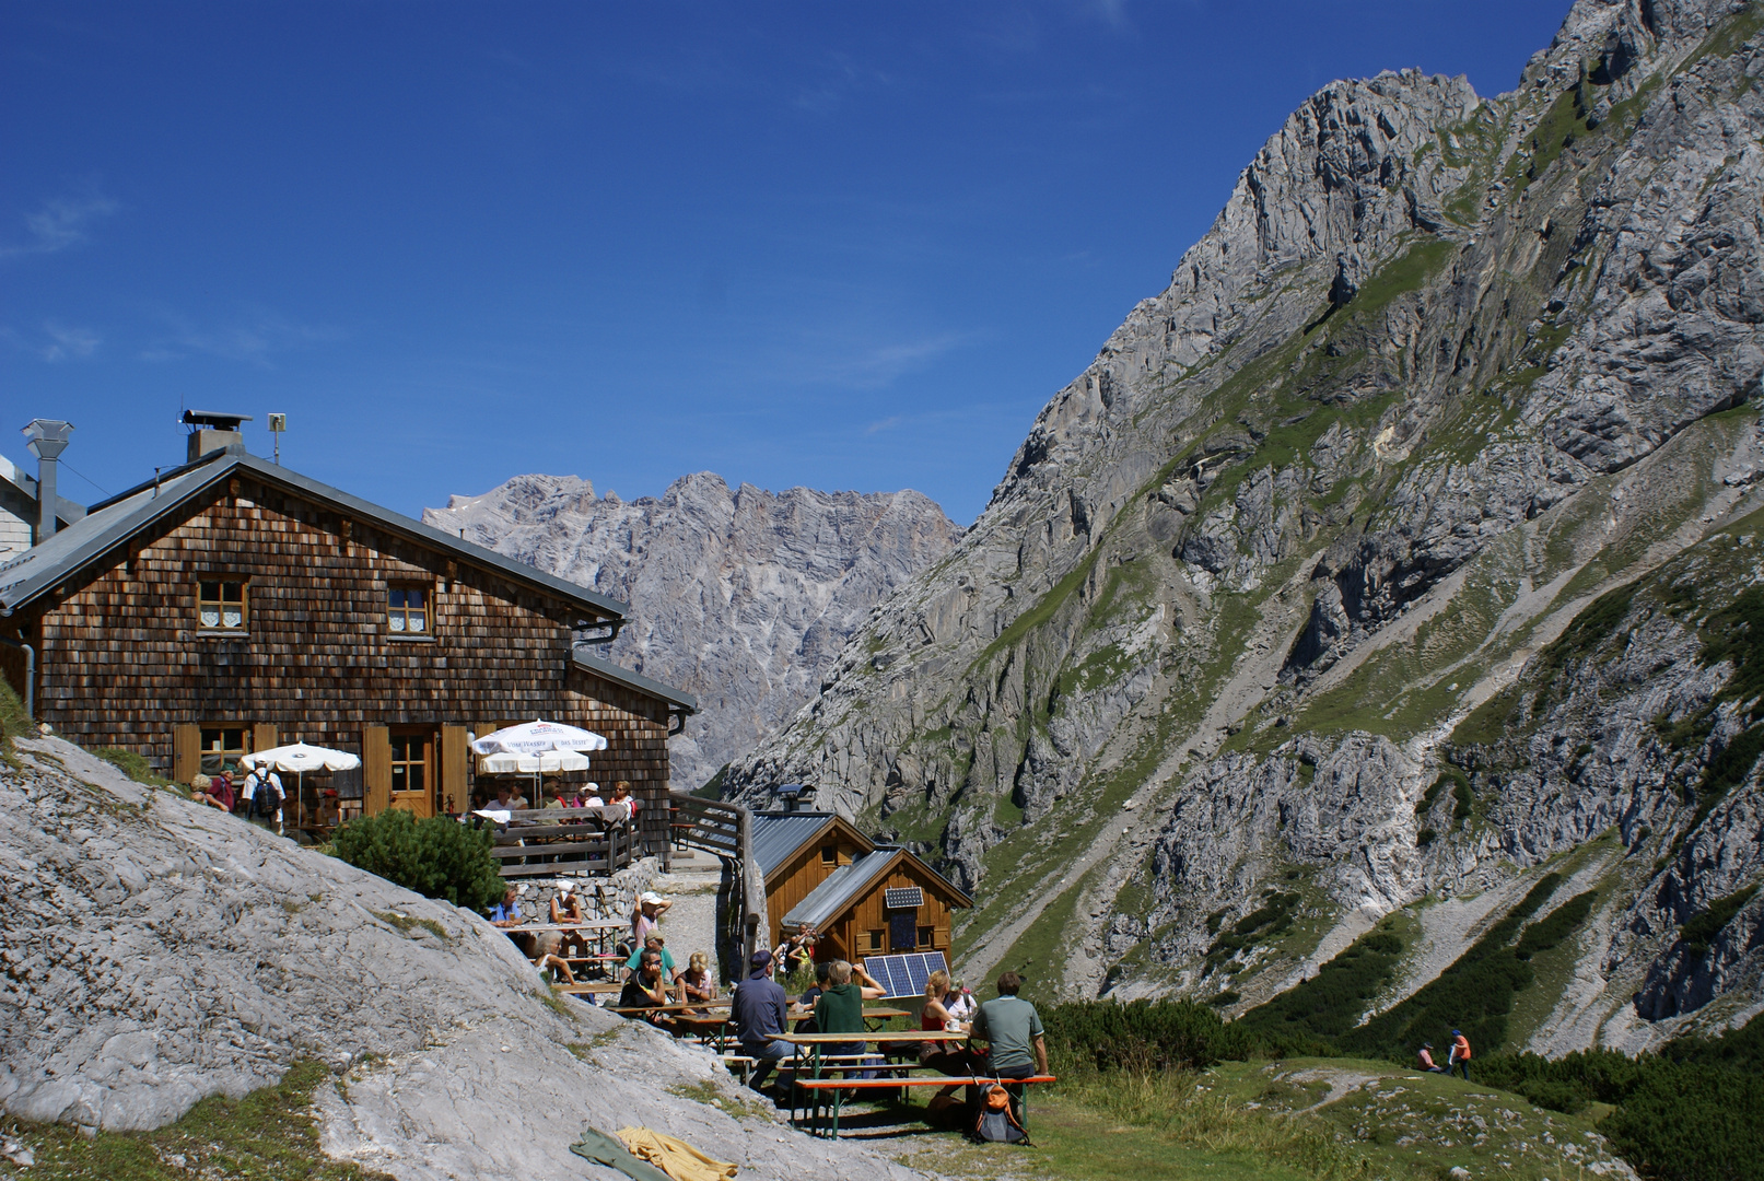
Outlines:
[[65, 1125], [4, 1121], [37, 1163], [0, 1176], [32, 1181], [390, 1181], [353, 1163], [325, 1156], [312, 1119], [312, 1091], [332, 1086], [323, 1063], [289, 1066], [275, 1086], [245, 1098], [212, 1096], [157, 1132], [99, 1132], [85, 1137]]

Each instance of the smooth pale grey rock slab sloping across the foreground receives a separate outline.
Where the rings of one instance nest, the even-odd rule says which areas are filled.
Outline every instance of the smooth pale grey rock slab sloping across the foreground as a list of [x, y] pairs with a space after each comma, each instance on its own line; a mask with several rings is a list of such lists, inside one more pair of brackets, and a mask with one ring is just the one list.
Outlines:
[[16, 756], [0, 765], [11, 1116], [155, 1128], [318, 1058], [339, 1072], [314, 1095], [325, 1149], [400, 1181], [616, 1176], [568, 1146], [584, 1125], [630, 1123], [743, 1177], [917, 1176], [741, 1102], [704, 1049], [575, 1001], [559, 1012], [476, 915], [56, 739]]

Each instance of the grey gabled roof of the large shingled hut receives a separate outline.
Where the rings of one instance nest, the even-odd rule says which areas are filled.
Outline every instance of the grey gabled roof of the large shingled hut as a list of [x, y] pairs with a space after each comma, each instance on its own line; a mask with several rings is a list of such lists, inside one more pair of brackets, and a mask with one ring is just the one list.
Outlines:
[[191, 497], [238, 472], [247, 472], [268, 485], [279, 485], [309, 501], [328, 504], [339, 513], [363, 524], [370, 522], [386, 532], [399, 534], [443, 553], [453, 553], [480, 569], [489, 569], [513, 582], [543, 590], [609, 622], [624, 619], [632, 610], [628, 603], [547, 575], [534, 566], [503, 557], [494, 550], [443, 532], [434, 525], [425, 525], [402, 513], [393, 513], [388, 508], [323, 485], [318, 479], [309, 479], [288, 467], [247, 455], [243, 449], [228, 448], [205, 455], [194, 464], [175, 467], [157, 481], [143, 483], [109, 501], [93, 504], [86, 509], [83, 520], [71, 524], [42, 545], [32, 546], [12, 561], [0, 564], [0, 615], [11, 615], [69, 575], [79, 573], [79, 569], [134, 534], [171, 515]]

